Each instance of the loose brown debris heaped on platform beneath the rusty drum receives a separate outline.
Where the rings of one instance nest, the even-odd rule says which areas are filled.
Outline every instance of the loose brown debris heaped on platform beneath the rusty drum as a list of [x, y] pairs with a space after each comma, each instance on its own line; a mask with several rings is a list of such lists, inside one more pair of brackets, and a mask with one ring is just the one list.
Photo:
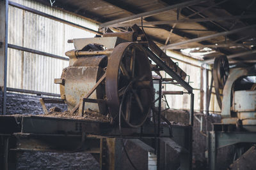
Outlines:
[[87, 109], [84, 112], [83, 117], [78, 115], [78, 111], [76, 111], [75, 113], [70, 113], [70, 111], [61, 111], [60, 108], [58, 107], [53, 107], [49, 109], [49, 113], [48, 114], [44, 114], [42, 115], [44, 117], [61, 117], [61, 118], [76, 118], [76, 119], [80, 119], [80, 120], [90, 120], [90, 121], [94, 121], [94, 122], [111, 122], [112, 118], [111, 116], [108, 115], [102, 115], [96, 111]]

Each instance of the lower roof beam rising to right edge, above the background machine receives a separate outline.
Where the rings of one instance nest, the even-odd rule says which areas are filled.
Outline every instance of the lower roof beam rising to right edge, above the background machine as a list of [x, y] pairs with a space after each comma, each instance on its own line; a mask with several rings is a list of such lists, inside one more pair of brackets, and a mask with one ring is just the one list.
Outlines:
[[206, 39], [211, 39], [211, 38], [215, 38], [215, 37], [218, 37], [218, 36], [226, 36], [228, 34], [234, 34], [236, 32], [244, 31], [246, 29], [253, 29], [255, 27], [256, 27], [256, 25], [250, 25], [250, 26], [247, 26], [247, 27], [234, 29], [232, 31], [224, 31], [224, 32], [212, 34], [212, 35], [209, 35], [209, 36], [202, 36], [202, 37], [199, 37], [199, 38], [189, 39], [187, 41], [181, 41], [179, 43], [173, 43], [173, 44], [170, 44], [170, 45], [162, 46], [161, 48], [162, 49], [168, 49], [168, 48], [173, 47], [173, 46], [179, 46], [179, 45], [185, 45], [185, 44], [188, 44], [188, 43], [195, 43], [195, 42], [199, 42], [199, 41], [204, 41]]

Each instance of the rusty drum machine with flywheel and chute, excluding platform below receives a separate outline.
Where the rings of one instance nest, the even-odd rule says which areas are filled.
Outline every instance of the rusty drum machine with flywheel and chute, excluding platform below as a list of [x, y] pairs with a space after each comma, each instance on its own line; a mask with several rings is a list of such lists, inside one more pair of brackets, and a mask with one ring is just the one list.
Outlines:
[[162, 55], [181, 80], [186, 78], [186, 73], [153, 41], [148, 41], [138, 27], [133, 29], [70, 40], [75, 50], [66, 52], [69, 66], [63, 69], [61, 78], [55, 83], [60, 84], [61, 99], [71, 113], [78, 111], [83, 116], [90, 109], [102, 115], [110, 113], [113, 122], [118, 122], [120, 103], [124, 101], [122, 118], [125, 124], [140, 127], [154, 99], [151, 68], [157, 72], [158, 67], [150, 66], [148, 53]]

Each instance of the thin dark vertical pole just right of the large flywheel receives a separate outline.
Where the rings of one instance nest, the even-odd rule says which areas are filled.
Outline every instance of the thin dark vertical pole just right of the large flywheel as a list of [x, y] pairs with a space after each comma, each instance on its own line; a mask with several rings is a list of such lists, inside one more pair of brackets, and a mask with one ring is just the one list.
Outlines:
[[162, 79], [159, 80], [159, 100], [158, 100], [158, 117], [157, 117], [157, 170], [160, 170], [160, 116], [162, 103]]

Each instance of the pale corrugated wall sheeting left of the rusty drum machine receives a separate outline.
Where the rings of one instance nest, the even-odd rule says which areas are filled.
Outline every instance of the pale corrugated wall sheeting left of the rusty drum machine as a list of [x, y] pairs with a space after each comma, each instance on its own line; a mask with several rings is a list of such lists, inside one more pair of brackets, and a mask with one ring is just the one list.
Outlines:
[[[98, 25], [93, 22], [49, 6], [26, 0], [14, 2], [84, 27], [98, 29]], [[73, 44], [67, 43], [68, 39], [93, 36], [95, 34], [88, 31], [9, 6], [8, 43], [10, 44], [64, 57], [67, 50], [74, 48]], [[67, 66], [68, 61], [65, 60], [9, 48], [7, 87], [60, 93], [59, 86], [54, 85], [54, 78], [60, 78], [62, 69]]]

